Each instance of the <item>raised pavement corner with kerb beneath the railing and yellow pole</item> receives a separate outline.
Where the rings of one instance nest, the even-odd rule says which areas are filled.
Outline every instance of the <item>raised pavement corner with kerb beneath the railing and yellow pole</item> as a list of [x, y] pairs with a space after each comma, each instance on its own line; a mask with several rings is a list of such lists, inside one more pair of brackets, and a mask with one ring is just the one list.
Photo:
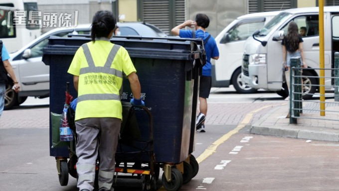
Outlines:
[[[303, 109], [319, 110], [319, 100], [303, 101]], [[286, 118], [287, 114], [287, 104], [273, 108], [252, 125], [251, 133], [309, 140], [339, 141], [339, 102], [334, 99], [326, 99], [325, 116], [320, 116], [320, 111], [303, 110], [303, 113], [300, 114], [301, 118], [297, 119], [298, 123], [290, 124], [290, 119]]]

